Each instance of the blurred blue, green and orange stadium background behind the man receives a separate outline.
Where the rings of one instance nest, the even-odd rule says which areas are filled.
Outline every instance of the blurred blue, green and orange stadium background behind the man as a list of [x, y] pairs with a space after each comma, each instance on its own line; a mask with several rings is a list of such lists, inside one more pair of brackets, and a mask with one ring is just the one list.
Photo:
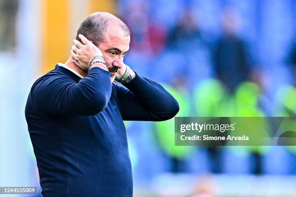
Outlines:
[[[95, 11], [127, 23], [125, 63], [177, 116], [296, 116], [296, 0], [0, 0], [0, 186], [40, 193], [27, 96]], [[295, 147], [174, 147], [173, 125], [126, 122], [134, 197], [296, 197]]]

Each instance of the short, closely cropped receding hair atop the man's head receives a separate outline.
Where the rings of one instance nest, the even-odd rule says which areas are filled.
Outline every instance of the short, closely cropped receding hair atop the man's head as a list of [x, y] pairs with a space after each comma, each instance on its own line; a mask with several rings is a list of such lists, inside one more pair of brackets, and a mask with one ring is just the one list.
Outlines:
[[104, 41], [105, 33], [108, 28], [109, 21], [116, 21], [118, 26], [123, 30], [126, 36], [130, 36], [131, 32], [127, 25], [117, 16], [109, 13], [94, 13], [90, 14], [79, 26], [76, 34], [76, 40], [81, 42], [79, 34], [84, 35], [88, 40], [91, 40], [94, 45], [98, 45]]

